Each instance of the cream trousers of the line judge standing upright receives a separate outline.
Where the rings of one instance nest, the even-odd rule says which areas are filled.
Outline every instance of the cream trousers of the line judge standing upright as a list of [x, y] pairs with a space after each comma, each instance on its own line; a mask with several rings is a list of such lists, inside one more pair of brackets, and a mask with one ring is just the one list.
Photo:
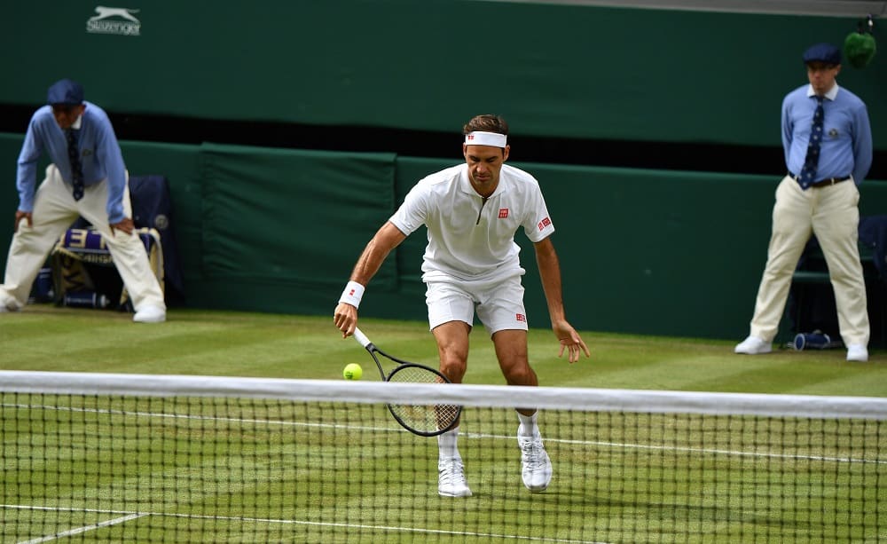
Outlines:
[[773, 235], [757, 290], [751, 335], [772, 342], [779, 328], [791, 276], [810, 234], [816, 234], [835, 290], [838, 327], [845, 345], [868, 345], [866, 282], [860, 264], [860, 191], [852, 179], [801, 190], [786, 176], [776, 189]]

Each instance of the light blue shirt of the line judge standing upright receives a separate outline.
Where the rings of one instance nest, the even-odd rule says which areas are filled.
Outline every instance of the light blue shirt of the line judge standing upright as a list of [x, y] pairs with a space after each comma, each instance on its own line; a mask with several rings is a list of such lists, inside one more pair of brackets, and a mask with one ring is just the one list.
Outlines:
[[[782, 100], [782, 148], [789, 172], [804, 168], [816, 99], [811, 85], [798, 87]], [[865, 103], [837, 83], [822, 104], [823, 135], [815, 181], [852, 176], [860, 185], [872, 166], [872, 128]]]

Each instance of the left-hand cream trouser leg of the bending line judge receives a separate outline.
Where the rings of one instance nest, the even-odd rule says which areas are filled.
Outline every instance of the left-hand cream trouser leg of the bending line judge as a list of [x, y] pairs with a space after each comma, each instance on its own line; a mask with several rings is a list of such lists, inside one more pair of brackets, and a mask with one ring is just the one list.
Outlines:
[[55, 165], [50, 164], [46, 178], [35, 193], [33, 225], [28, 226], [27, 221], [22, 220], [12, 235], [4, 284], [0, 286], [0, 311], [15, 311], [27, 304], [31, 285], [46, 257], [77, 218], [72, 190]]

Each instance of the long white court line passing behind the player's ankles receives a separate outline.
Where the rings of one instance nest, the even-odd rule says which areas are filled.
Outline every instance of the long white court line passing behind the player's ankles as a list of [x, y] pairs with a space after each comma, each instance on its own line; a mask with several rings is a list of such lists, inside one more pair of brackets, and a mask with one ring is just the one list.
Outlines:
[[[381, 431], [381, 432], [409, 432], [408, 430], [404, 430], [401, 427], [368, 427], [362, 425], [338, 425], [334, 423], [306, 423], [306, 422], [284, 422], [284, 421], [274, 421], [274, 420], [258, 420], [258, 419], [239, 419], [232, 417], [214, 417], [208, 415], [192, 415], [192, 414], [156, 414], [152, 412], [128, 412], [125, 410], [107, 410], [107, 409], [98, 409], [98, 408], [74, 408], [70, 406], [47, 406], [47, 405], [16, 405], [16, 404], [2, 404], [0, 406], [4, 407], [16, 407], [16, 408], [39, 408], [42, 410], [58, 410], [58, 411], [68, 411], [68, 412], [87, 412], [94, 414], [119, 414], [119, 415], [137, 415], [144, 417], [159, 417], [159, 418], [172, 418], [172, 419], [185, 419], [185, 420], [206, 420], [206, 421], [216, 421], [216, 422], [241, 422], [241, 423], [261, 423], [265, 425], [282, 425], [287, 427], [313, 427], [318, 429], [349, 429], [349, 430], [371, 430], [371, 431]], [[496, 438], [503, 440], [513, 440], [514, 436], [506, 436], [506, 435], [487, 435], [480, 433], [471, 433], [471, 432], [463, 432], [460, 436], [465, 438]], [[887, 464], [887, 460], [885, 459], [860, 459], [857, 457], [828, 457], [822, 455], [805, 455], [798, 453], [771, 453], [771, 452], [746, 452], [742, 450], [722, 450], [722, 449], [710, 449], [710, 448], [696, 448], [690, 446], [677, 446], [677, 445], [645, 445], [645, 444], [630, 444], [630, 443], [618, 443], [618, 442], [600, 442], [593, 440], [568, 440], [561, 438], [546, 438], [546, 442], [556, 443], [556, 444], [577, 444], [577, 445], [598, 445], [605, 447], [619, 447], [624, 449], [640, 449], [640, 450], [658, 450], [658, 451], [666, 451], [666, 452], [680, 452], [680, 453], [715, 453], [718, 455], [729, 455], [734, 457], [761, 457], [767, 459], [783, 459], [783, 460], [805, 460], [805, 461], [831, 461], [831, 462], [839, 462], [839, 463], [875, 463], [875, 464]]]

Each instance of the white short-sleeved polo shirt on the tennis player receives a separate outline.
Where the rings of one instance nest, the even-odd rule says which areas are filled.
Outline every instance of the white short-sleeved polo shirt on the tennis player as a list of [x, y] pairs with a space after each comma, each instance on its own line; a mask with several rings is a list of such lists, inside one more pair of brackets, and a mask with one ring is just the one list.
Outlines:
[[554, 232], [536, 178], [507, 164], [486, 200], [471, 186], [467, 164], [431, 174], [412, 188], [389, 221], [406, 235], [428, 227], [424, 281], [521, 275], [517, 229], [522, 226], [532, 242]]

